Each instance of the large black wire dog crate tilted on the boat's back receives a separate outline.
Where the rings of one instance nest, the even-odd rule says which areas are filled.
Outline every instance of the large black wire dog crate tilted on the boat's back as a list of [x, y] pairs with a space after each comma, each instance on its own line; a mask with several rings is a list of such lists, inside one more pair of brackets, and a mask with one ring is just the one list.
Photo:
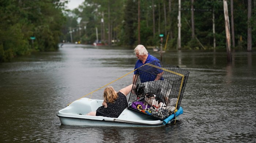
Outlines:
[[164, 120], [180, 108], [189, 71], [161, 61], [136, 69], [128, 109]]

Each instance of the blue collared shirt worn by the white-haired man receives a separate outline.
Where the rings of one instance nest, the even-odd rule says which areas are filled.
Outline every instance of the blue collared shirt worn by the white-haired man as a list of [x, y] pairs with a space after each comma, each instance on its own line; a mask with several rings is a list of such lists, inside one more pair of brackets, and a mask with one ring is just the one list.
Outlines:
[[[154, 64], [158, 67], [161, 67], [159, 60], [156, 57], [151, 56], [148, 53], [147, 59], [146, 59], [144, 64], [150, 63], [152, 61], [155, 61], [152, 64]], [[134, 69], [137, 69], [137, 68], [140, 67], [139, 69], [134, 71], [134, 74], [135, 75], [136, 74], [140, 75], [140, 82], [141, 83], [154, 81], [155, 78], [157, 77], [157, 74], [160, 74], [161, 72], [163, 72], [162, 69], [151, 67], [150, 65], [146, 65], [146, 66], [141, 67], [144, 64], [142, 63], [141, 60], [138, 60], [135, 64], [135, 67], [134, 67]], [[163, 78], [161, 77], [160, 80], [163, 80]]]

